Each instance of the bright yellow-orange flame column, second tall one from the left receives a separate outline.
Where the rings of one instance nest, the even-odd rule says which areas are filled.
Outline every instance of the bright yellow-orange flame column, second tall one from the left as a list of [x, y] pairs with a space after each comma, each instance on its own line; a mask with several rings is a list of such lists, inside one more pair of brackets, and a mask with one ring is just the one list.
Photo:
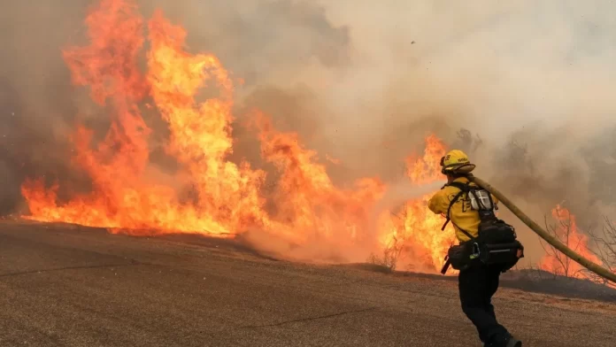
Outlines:
[[[233, 150], [233, 83], [227, 71], [211, 54], [183, 51], [186, 32], [162, 12], [154, 14], [149, 28], [151, 95], [171, 130], [168, 151], [186, 166], [198, 192], [195, 217], [212, 220], [229, 233], [261, 225], [266, 216], [259, 187], [265, 174], [227, 160]], [[196, 103], [197, 92], [209, 80], [219, 95]]]

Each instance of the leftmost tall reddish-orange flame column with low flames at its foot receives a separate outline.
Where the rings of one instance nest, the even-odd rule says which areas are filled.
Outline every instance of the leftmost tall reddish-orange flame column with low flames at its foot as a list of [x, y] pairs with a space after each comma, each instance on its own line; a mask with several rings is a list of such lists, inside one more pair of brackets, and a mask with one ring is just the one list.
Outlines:
[[[142, 19], [135, 5], [104, 0], [98, 11], [86, 18], [88, 47], [63, 51], [73, 83], [89, 86], [90, 96], [111, 112], [111, 126], [104, 140], [90, 149], [94, 132], [79, 126], [72, 136], [77, 155], [76, 166], [87, 172], [95, 191], [80, 195], [58, 206], [58, 184], [44, 190], [44, 181], [26, 181], [22, 194], [36, 220], [62, 220], [86, 226], [140, 227], [130, 217], [135, 200], [147, 204], [148, 197], [163, 193], [152, 189], [150, 195], [138, 194], [139, 183], [148, 162], [150, 128], [143, 121], [137, 103], [147, 93], [143, 76], [137, 69], [142, 49]], [[151, 204], [150, 204], [151, 205]]]

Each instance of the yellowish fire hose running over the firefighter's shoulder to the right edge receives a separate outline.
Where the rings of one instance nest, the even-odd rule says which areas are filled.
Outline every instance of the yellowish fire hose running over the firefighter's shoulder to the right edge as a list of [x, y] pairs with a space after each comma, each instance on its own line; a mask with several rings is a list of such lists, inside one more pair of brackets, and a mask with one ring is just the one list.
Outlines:
[[561, 243], [558, 238], [553, 235], [550, 235], [548, 232], [543, 230], [543, 227], [540, 227], [537, 223], [535, 223], [535, 220], [531, 220], [530, 217], [528, 217], [524, 212], [520, 210], [520, 208], [518, 208], [518, 206], [513, 204], [511, 200], [505, 197], [503, 193], [498, 191], [496, 188], [491, 186], [487, 181], [483, 181], [480, 178], [474, 176], [472, 176], [470, 180], [474, 181], [481, 188], [488, 190], [490, 193], [492, 193], [494, 197], [497, 197], [497, 199], [502, 204], [504, 204], [509, 209], [509, 211], [513, 212], [513, 214], [515, 214], [516, 217], [518, 217], [524, 224], [526, 224], [527, 227], [530, 227], [531, 230], [533, 230], [537, 235], [543, 238], [543, 240], [545, 240], [547, 243], [550, 243], [558, 251], [561, 251], [563, 254], [565, 254], [566, 257], [571, 258], [576, 263], [586, 267], [587, 269], [603, 277], [604, 279], [616, 283], [616, 274], [612, 273], [610, 270], [604, 268], [603, 266], [599, 266], [596, 263], [590, 261], [589, 259], [582, 257], [576, 251], [570, 249], [565, 244]]

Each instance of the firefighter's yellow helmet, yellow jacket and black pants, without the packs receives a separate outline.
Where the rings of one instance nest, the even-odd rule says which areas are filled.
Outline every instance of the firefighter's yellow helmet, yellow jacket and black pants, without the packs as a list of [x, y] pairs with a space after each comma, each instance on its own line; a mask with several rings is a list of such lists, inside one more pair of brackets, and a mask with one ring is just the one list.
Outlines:
[[[442, 172], [447, 176], [447, 182], [459, 182], [474, 185], [469, 181], [475, 166], [471, 164], [462, 150], [450, 150], [441, 159]], [[458, 184], [459, 184], [458, 183]], [[456, 183], [454, 183], [456, 184]], [[476, 187], [476, 186], [475, 186]], [[459, 189], [445, 185], [428, 202], [428, 208], [436, 214], [447, 214], [451, 220], [456, 237], [460, 244], [467, 243], [470, 234], [477, 237], [480, 226], [479, 212], [471, 206], [468, 193], [458, 196]], [[454, 200], [458, 196], [457, 201]], [[497, 199], [492, 197], [496, 207]], [[454, 201], [452, 204], [450, 204]], [[521, 347], [522, 343], [513, 337], [506, 328], [497, 321], [492, 296], [497, 292], [498, 280], [503, 269], [495, 265], [486, 265], [480, 259], [473, 259], [467, 268], [458, 274], [458, 290], [462, 311], [477, 328], [484, 346], [489, 347]]]

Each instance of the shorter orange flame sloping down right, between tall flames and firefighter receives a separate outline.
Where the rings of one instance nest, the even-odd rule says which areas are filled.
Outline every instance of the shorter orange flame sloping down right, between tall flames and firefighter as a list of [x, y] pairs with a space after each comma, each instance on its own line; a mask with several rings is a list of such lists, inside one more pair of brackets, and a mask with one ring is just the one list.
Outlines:
[[[306, 150], [295, 133], [280, 133], [262, 113], [256, 115], [261, 153], [281, 172], [273, 192], [270, 227], [277, 235], [288, 235], [296, 243], [308, 239], [337, 244], [362, 242], [368, 237], [370, 210], [382, 196], [385, 185], [375, 178], [358, 180], [355, 189], [339, 189], [317, 163], [317, 153]], [[349, 245], [349, 244], [347, 244]]]

